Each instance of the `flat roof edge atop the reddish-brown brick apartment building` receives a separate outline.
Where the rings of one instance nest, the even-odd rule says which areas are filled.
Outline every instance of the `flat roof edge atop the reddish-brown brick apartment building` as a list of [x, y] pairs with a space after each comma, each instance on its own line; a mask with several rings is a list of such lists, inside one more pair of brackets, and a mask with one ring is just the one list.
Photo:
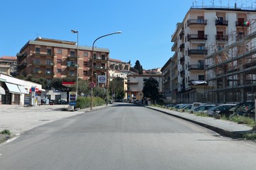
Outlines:
[[[28, 45], [44, 45], [44, 46], [50, 46], [50, 47], [62, 47], [62, 48], [70, 48], [70, 49], [77, 49], [77, 45], [75, 42], [72, 41], [65, 41], [65, 40], [54, 40], [54, 39], [47, 39], [47, 38], [36, 38], [35, 40], [29, 40], [26, 45], [24, 45], [20, 52], [23, 52], [23, 50]], [[87, 46], [78, 46], [79, 50], [92, 50], [92, 47]], [[109, 52], [108, 48], [98, 48], [94, 47], [94, 51], [99, 52]]]

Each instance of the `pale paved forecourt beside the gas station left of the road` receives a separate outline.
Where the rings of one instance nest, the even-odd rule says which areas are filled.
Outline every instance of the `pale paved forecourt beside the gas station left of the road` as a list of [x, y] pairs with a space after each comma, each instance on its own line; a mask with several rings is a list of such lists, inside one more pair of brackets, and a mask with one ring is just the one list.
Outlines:
[[[94, 107], [93, 111], [104, 107], [106, 106]], [[67, 108], [68, 105], [42, 105], [33, 107], [1, 105], [0, 132], [2, 130], [10, 130], [11, 137], [15, 137], [23, 132], [46, 123], [51, 123], [55, 120], [91, 112], [90, 108], [81, 109], [79, 111], [66, 111]], [[0, 142], [8, 139], [9, 137], [9, 135], [0, 135]]]

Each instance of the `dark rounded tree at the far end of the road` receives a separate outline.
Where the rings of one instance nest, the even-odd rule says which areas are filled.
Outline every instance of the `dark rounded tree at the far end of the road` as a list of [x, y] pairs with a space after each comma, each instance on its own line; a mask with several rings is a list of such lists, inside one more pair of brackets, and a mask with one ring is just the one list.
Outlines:
[[143, 86], [143, 94], [145, 98], [151, 98], [152, 101], [158, 101], [160, 99], [159, 94], [159, 83], [157, 80], [150, 77], [147, 81], [145, 81]]

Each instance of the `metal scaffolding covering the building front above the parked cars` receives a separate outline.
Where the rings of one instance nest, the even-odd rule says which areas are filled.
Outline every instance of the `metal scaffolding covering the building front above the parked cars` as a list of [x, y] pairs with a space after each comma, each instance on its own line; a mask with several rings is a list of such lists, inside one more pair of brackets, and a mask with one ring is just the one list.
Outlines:
[[[207, 101], [240, 103], [256, 96], [256, 22], [238, 26], [208, 45], [206, 55]], [[222, 36], [222, 35], [221, 35]]]

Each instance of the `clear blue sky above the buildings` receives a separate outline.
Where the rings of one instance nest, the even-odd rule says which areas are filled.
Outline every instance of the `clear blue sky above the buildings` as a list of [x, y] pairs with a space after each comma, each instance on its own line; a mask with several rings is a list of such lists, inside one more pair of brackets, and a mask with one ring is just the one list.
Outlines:
[[110, 50], [110, 58], [136, 60], [143, 69], [165, 65], [172, 57], [171, 37], [191, 6], [256, 6], [256, 0], [9, 0], [1, 1], [0, 57], [16, 56], [28, 40], [77, 41]]

